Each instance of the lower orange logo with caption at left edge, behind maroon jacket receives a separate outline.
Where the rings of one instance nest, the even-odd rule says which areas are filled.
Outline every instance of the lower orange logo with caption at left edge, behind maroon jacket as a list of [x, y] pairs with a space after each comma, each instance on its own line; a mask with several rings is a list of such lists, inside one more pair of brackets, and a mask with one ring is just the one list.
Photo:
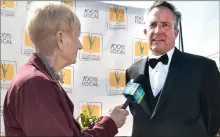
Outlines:
[[1, 60], [0, 71], [1, 89], [7, 89], [17, 71], [17, 64], [15, 61]]

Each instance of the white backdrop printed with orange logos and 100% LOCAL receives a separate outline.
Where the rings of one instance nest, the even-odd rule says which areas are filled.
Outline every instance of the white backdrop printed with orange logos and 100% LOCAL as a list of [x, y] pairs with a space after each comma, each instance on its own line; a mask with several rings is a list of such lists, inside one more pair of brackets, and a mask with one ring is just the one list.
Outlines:
[[[1, 2], [1, 106], [10, 80], [34, 51], [25, 24], [32, 9], [30, 4], [39, 3], [43, 2]], [[88, 102], [95, 107], [94, 115], [103, 115], [110, 107], [124, 103], [121, 92], [125, 86], [125, 70], [133, 61], [147, 55], [142, 33], [144, 10], [102, 2], [66, 4], [81, 21], [83, 50], [77, 64], [64, 69], [63, 87], [75, 105], [75, 117]], [[129, 136], [129, 125], [131, 117], [118, 135]], [[1, 132], [4, 134], [2, 115]]]

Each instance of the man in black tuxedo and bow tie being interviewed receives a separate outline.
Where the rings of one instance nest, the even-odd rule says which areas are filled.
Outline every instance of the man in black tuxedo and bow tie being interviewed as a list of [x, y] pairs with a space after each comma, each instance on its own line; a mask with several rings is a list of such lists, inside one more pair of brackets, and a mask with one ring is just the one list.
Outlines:
[[215, 136], [220, 129], [220, 73], [213, 60], [175, 48], [181, 13], [155, 2], [147, 15], [149, 56], [126, 70], [146, 76], [141, 104], [130, 103], [133, 137]]

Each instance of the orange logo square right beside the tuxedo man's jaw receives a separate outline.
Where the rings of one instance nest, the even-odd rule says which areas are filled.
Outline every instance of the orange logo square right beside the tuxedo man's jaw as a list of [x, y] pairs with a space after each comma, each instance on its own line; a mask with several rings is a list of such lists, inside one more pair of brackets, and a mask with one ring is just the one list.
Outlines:
[[146, 42], [142, 42], [141, 40], [135, 41], [135, 56], [147, 56], [148, 49], [149, 46]]

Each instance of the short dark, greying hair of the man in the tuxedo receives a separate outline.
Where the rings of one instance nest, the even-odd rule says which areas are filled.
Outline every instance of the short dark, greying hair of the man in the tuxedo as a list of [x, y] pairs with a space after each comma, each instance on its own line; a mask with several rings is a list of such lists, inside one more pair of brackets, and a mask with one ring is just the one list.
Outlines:
[[170, 9], [171, 12], [174, 15], [174, 20], [175, 20], [174, 28], [178, 27], [178, 24], [179, 24], [179, 22], [181, 20], [181, 16], [182, 15], [181, 15], [181, 13], [179, 11], [177, 11], [176, 7], [173, 4], [171, 4], [171, 3], [167, 2], [167, 1], [161, 1], [161, 0], [155, 1], [154, 4], [149, 8], [148, 13], [150, 13], [151, 10], [153, 8], [156, 8], [156, 7], [166, 7], [168, 9]]

